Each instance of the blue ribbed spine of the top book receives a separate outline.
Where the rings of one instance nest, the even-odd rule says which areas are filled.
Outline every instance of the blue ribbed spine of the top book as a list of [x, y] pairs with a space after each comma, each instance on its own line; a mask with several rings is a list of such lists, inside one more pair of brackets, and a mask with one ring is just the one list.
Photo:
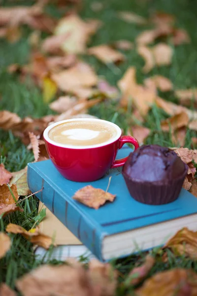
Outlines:
[[[100, 260], [104, 234], [97, 225], [82, 214], [69, 198], [65, 198], [58, 188], [52, 187], [50, 180], [28, 166], [28, 185], [36, 197]], [[85, 255], [85, 254], [84, 254]]]

